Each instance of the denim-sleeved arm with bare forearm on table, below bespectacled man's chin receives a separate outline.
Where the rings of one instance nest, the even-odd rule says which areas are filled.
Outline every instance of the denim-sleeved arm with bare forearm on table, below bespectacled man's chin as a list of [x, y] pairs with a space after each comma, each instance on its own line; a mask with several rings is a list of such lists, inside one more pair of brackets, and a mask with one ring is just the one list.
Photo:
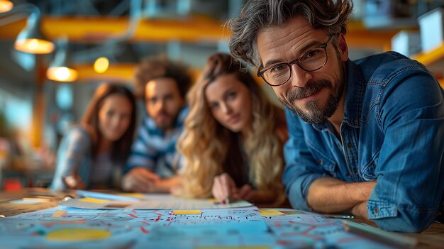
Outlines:
[[368, 200], [375, 183], [344, 182], [328, 175], [311, 155], [304, 140], [300, 121], [291, 111], [288, 109], [285, 111], [289, 140], [284, 146], [287, 165], [282, 179], [292, 207], [323, 213], [351, 209], [356, 216], [367, 217], [362, 208], [353, 208], [363, 205]]

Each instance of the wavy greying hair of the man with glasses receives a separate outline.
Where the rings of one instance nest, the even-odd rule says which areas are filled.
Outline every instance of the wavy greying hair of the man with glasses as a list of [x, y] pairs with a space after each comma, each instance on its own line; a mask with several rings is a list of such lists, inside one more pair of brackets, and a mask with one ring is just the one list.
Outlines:
[[[226, 23], [232, 33], [231, 55], [260, 67], [256, 40], [262, 28], [282, 26], [294, 16], [304, 16], [313, 28], [329, 35], [345, 34], [352, 9], [352, 0], [250, 0], [238, 17]], [[337, 45], [337, 40], [333, 44]]]

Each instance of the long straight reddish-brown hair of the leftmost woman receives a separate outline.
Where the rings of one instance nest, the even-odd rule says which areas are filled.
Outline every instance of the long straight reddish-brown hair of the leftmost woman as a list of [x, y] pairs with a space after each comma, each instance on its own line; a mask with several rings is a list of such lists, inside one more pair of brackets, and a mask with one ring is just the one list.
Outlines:
[[125, 162], [130, 154], [131, 145], [133, 144], [136, 106], [134, 94], [123, 85], [123, 83], [104, 83], [101, 84], [94, 93], [87, 110], [82, 118], [82, 126], [87, 128], [92, 138], [92, 156], [96, 157], [99, 149], [99, 141], [101, 133], [99, 131], [99, 110], [104, 104], [104, 100], [113, 94], [120, 94], [126, 97], [131, 103], [131, 121], [128, 129], [123, 133], [122, 137], [113, 142], [111, 147], [111, 160], [113, 162]]

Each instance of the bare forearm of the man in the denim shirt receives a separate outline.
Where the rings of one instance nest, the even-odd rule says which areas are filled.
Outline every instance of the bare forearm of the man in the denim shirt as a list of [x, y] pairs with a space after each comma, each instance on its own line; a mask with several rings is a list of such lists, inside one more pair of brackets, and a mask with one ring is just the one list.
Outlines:
[[332, 177], [318, 178], [309, 187], [307, 202], [312, 209], [324, 213], [353, 208], [362, 211], [362, 206], [357, 205], [367, 203], [375, 184], [376, 182], [343, 182]]

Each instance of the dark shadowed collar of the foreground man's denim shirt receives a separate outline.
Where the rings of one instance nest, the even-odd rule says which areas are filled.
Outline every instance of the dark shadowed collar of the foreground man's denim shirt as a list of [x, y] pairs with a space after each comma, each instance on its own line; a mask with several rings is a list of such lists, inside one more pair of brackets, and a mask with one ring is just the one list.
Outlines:
[[[345, 83], [345, 106], [343, 123], [355, 128], [360, 127], [362, 100], [364, 99], [365, 87], [361, 69], [355, 62], [348, 60], [345, 62], [346, 83]], [[328, 121], [314, 123], [313, 128], [318, 131], [326, 131], [331, 127]]]

